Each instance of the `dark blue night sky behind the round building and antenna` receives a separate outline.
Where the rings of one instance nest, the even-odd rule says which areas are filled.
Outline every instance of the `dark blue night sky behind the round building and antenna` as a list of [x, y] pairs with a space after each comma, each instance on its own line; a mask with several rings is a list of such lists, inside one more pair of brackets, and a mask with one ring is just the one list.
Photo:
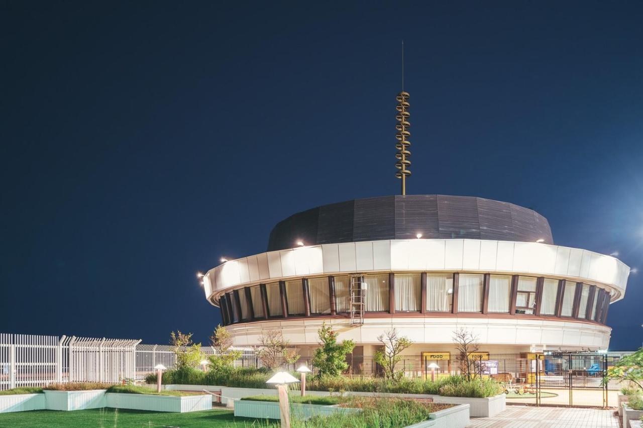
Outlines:
[[[643, 3], [0, 5], [2, 332], [206, 341], [196, 271], [398, 192], [401, 39], [408, 193], [533, 208], [643, 268]], [[640, 345], [642, 289], [611, 349]]]

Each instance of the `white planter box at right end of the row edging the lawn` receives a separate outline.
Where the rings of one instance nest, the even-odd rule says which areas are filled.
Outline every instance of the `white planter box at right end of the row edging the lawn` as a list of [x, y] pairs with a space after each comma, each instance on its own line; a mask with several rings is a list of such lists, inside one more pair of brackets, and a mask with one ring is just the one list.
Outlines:
[[212, 409], [211, 395], [147, 395], [107, 393], [107, 406], [115, 409], [149, 410], [155, 412], [195, 412]]

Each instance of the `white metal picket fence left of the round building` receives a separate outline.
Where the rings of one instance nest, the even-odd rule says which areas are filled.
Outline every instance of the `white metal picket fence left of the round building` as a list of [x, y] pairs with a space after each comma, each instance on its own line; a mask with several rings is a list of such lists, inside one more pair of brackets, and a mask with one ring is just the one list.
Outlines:
[[[156, 364], [174, 368], [174, 346], [141, 344], [132, 339], [0, 334], [0, 391], [53, 382], [143, 380]], [[254, 348], [242, 352], [235, 366], [257, 366]], [[215, 354], [210, 346], [205, 355]]]

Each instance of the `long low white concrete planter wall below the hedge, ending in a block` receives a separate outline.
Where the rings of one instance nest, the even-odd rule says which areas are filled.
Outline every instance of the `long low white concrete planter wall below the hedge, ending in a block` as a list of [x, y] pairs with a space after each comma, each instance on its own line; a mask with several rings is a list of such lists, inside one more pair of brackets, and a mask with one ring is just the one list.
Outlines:
[[[221, 391], [221, 403], [231, 407], [231, 401], [239, 400], [244, 397], [253, 395], [277, 395], [276, 389], [269, 388], [228, 388], [227, 386], [208, 386], [208, 385], [166, 385], [165, 389], [180, 389], [181, 391]], [[306, 391], [306, 395], [331, 395], [328, 391]], [[506, 396], [504, 394], [488, 398], [468, 398], [468, 397], [444, 397], [442, 395], [431, 394], [398, 394], [398, 393], [372, 393], [372, 392], [352, 392], [348, 391], [345, 395], [356, 397], [390, 397], [390, 398], [431, 398], [433, 402], [445, 404], [469, 404], [469, 414], [472, 418], [489, 418], [505, 411], [507, 406]]]

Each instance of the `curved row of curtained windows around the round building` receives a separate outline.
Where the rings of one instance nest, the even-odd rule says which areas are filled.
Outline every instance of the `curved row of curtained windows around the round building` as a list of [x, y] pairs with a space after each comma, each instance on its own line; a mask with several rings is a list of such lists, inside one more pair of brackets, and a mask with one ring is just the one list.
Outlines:
[[347, 313], [359, 283], [366, 312], [535, 314], [604, 323], [610, 303], [608, 291], [575, 281], [464, 273], [304, 278], [234, 290], [219, 303], [226, 324], [284, 317], [284, 311], [287, 316]]

